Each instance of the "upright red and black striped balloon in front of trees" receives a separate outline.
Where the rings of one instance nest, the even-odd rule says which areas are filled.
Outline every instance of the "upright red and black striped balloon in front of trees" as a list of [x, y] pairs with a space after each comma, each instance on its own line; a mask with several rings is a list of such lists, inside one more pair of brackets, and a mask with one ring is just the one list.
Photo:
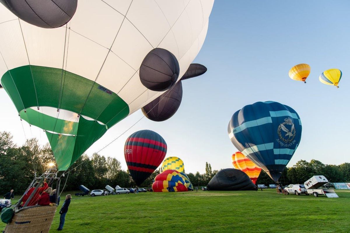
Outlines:
[[140, 130], [126, 139], [125, 161], [137, 185], [142, 184], [164, 160], [167, 144], [158, 133]]

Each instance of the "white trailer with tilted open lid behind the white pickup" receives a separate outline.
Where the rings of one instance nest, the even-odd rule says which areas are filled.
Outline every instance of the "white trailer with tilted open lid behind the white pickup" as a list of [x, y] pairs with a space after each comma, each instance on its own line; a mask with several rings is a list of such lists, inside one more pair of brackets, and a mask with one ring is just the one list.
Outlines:
[[327, 197], [338, 197], [334, 189], [319, 189], [322, 185], [327, 184], [328, 180], [326, 177], [318, 175], [313, 176], [307, 180], [304, 185], [308, 194], [312, 194], [315, 197], [318, 195], [325, 195]]

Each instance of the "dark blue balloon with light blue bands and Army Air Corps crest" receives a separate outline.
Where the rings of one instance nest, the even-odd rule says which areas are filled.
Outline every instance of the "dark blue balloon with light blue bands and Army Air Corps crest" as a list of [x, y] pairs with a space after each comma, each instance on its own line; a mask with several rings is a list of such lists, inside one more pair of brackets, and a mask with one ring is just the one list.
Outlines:
[[274, 181], [295, 153], [301, 131], [297, 112], [274, 101], [246, 105], [233, 114], [228, 125], [232, 144]]

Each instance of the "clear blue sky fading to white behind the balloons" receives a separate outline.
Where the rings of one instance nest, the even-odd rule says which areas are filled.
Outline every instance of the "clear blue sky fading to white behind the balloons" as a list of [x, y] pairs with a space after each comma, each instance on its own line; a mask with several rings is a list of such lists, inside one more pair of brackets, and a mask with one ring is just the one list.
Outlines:
[[[300, 159], [327, 164], [350, 162], [349, 23], [350, 1], [216, 1], [202, 50], [194, 60], [208, 68], [201, 77], [183, 81], [183, 98], [176, 114], [165, 122], [141, 119], [100, 154], [124, 160], [124, 143], [133, 132], [150, 129], [168, 144], [167, 156], [179, 156], [186, 172], [228, 168], [232, 145], [227, 125], [232, 114], [257, 101], [277, 101], [300, 115], [300, 146], [287, 166]], [[307, 63], [307, 83], [291, 80], [289, 69]], [[324, 85], [318, 76], [339, 68], [339, 88]], [[0, 130], [14, 141], [25, 141], [18, 114], [4, 90], [0, 91]], [[91, 155], [142, 117], [141, 111], [124, 119], [87, 150]], [[26, 137], [41, 138], [41, 130], [23, 122]]]

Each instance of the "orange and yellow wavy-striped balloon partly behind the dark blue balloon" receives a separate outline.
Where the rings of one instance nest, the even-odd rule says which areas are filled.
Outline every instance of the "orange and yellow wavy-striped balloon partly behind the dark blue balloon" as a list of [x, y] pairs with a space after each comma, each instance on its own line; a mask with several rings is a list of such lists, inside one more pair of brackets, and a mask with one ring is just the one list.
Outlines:
[[231, 160], [233, 167], [247, 174], [252, 182], [256, 184], [261, 172], [261, 168], [259, 166], [255, 165], [255, 163], [253, 163], [239, 151], [237, 151], [236, 154], [232, 154]]

